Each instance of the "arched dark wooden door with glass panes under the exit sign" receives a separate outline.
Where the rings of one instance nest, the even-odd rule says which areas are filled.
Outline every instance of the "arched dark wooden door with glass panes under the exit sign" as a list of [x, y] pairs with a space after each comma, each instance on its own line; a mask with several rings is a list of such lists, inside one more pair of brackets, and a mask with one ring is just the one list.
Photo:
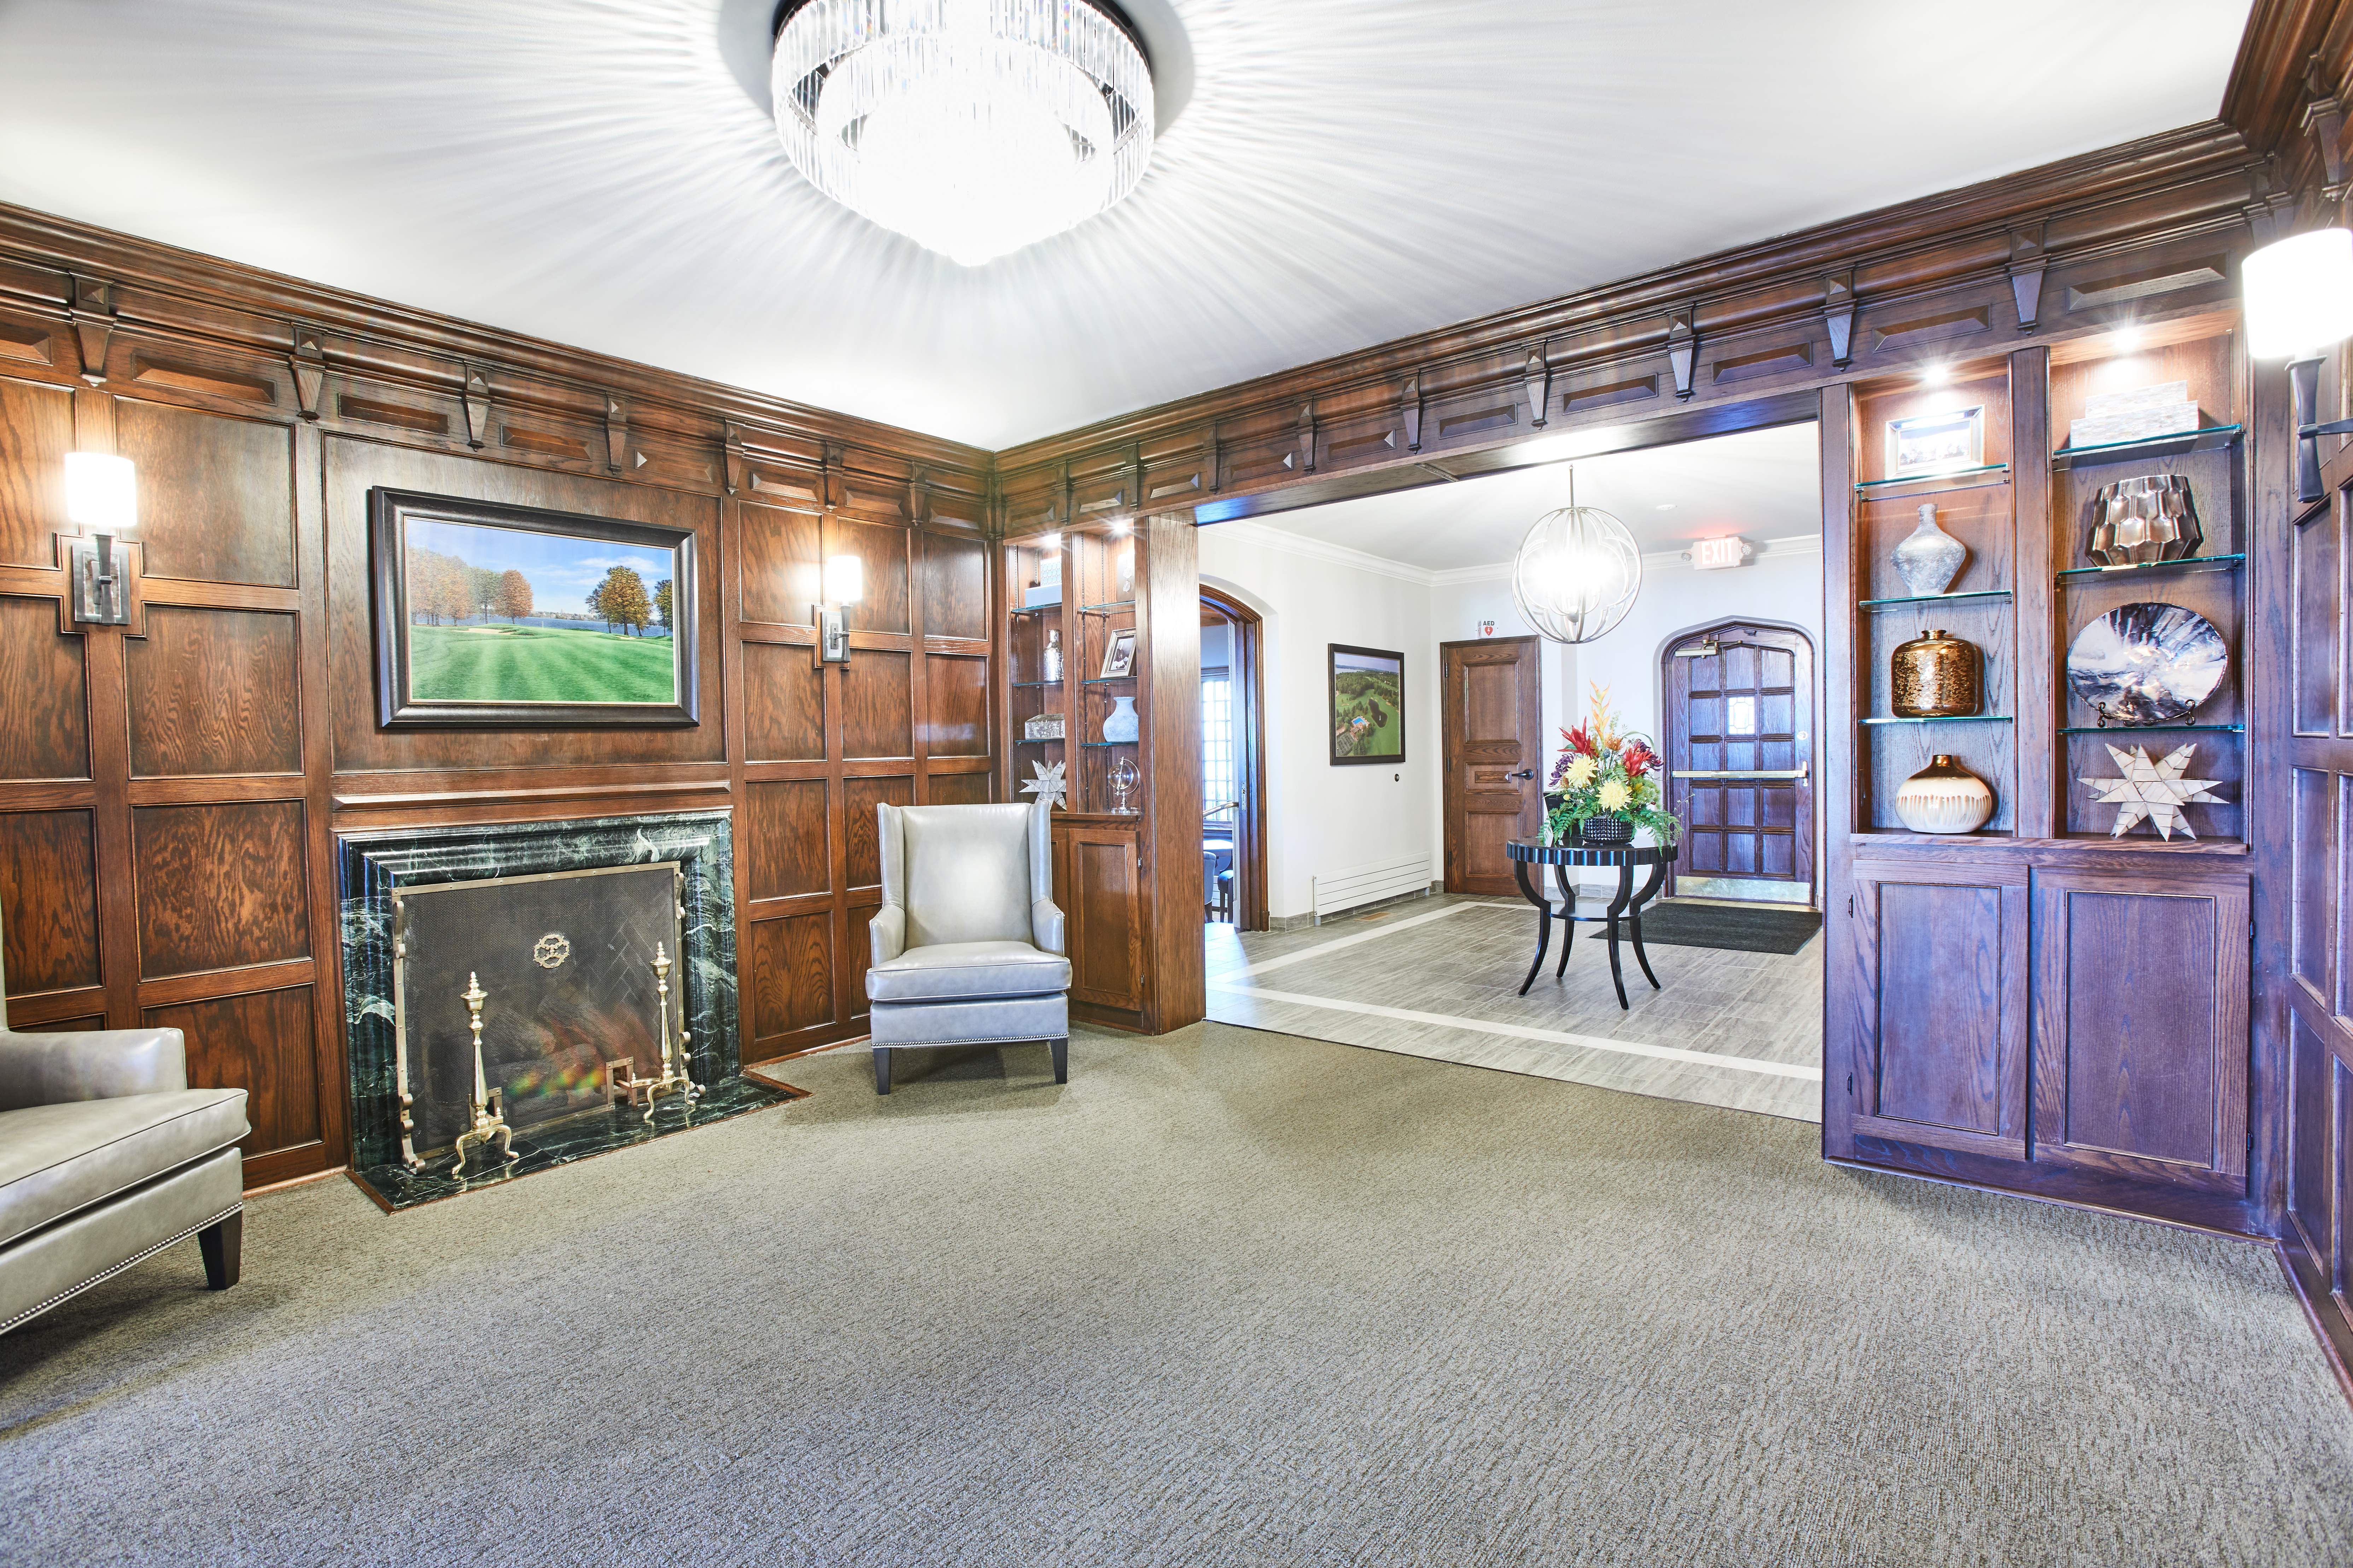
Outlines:
[[1668, 642], [1661, 675], [1668, 802], [1687, 830], [1673, 877], [1788, 882], [1812, 903], [1814, 644], [1725, 621]]

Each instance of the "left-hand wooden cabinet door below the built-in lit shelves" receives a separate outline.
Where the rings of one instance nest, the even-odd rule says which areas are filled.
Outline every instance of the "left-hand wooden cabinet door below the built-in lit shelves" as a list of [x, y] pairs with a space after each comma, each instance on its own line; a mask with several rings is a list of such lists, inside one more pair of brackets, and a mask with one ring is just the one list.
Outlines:
[[2026, 1159], [2024, 865], [1854, 863], [1854, 1131]]

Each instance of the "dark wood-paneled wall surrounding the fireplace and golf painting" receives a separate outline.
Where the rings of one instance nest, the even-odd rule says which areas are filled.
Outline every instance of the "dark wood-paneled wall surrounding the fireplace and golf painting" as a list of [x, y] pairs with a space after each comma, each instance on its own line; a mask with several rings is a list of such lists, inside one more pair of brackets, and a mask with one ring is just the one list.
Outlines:
[[[71, 449], [139, 465], [127, 630], [61, 630]], [[379, 729], [379, 484], [692, 529], [701, 724]], [[0, 209], [9, 1025], [174, 1025], [252, 1185], [325, 1171], [336, 832], [727, 804], [744, 1060], [864, 1032], [875, 802], [991, 792], [986, 517], [984, 451]]]

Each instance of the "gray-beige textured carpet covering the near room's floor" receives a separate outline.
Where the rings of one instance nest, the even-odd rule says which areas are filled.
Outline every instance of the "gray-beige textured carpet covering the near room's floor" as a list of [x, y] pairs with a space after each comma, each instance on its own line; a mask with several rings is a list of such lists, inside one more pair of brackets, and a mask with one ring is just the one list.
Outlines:
[[381, 1215], [0, 1338], [9, 1563], [2348, 1563], [2268, 1253], [1224, 1025]]

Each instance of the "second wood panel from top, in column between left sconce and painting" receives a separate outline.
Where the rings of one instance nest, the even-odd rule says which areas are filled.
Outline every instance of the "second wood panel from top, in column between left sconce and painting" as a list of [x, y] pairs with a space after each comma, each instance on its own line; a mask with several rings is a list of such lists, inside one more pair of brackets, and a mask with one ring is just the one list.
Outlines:
[[245, 609], [148, 607], [125, 642], [132, 773], [299, 773], [296, 621]]

